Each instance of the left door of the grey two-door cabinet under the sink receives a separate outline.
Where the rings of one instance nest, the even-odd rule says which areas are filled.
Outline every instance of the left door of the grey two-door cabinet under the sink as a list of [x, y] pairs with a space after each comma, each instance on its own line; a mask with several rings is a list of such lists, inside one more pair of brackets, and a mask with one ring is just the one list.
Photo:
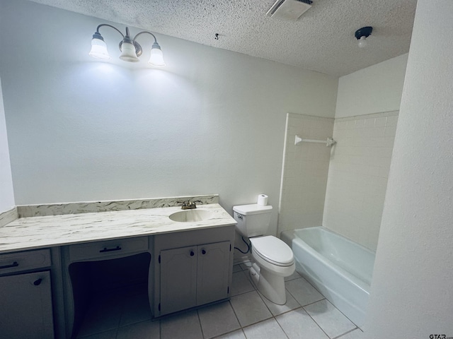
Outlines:
[[161, 315], [197, 302], [197, 246], [161, 251]]

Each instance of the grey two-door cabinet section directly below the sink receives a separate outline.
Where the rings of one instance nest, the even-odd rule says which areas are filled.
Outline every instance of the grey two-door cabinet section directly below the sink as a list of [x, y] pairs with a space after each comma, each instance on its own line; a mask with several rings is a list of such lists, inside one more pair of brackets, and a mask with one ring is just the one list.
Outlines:
[[154, 237], [154, 316], [229, 297], [234, 225]]

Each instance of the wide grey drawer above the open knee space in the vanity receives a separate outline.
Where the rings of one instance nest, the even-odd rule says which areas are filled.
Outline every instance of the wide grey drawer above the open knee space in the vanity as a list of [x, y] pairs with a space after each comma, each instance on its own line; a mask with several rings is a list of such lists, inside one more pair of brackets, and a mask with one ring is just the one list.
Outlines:
[[69, 246], [69, 260], [109, 258], [139, 251], [148, 251], [148, 237], [108, 240], [105, 242], [90, 242]]

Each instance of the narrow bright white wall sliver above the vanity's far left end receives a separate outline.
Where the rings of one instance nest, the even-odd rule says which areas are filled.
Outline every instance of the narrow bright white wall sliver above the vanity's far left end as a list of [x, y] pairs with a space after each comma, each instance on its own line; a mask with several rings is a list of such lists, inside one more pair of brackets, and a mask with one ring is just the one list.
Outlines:
[[13, 178], [11, 177], [11, 164], [9, 161], [5, 111], [0, 81], [0, 213], [13, 208], [15, 204]]

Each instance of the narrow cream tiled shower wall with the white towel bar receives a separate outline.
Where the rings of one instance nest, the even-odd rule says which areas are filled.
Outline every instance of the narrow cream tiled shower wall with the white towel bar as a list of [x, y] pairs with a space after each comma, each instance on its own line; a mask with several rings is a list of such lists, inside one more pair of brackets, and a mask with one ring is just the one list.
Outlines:
[[332, 133], [333, 118], [287, 114], [278, 234], [322, 225], [332, 148], [323, 143], [294, 145], [294, 139], [297, 134], [302, 138], [326, 140]]

